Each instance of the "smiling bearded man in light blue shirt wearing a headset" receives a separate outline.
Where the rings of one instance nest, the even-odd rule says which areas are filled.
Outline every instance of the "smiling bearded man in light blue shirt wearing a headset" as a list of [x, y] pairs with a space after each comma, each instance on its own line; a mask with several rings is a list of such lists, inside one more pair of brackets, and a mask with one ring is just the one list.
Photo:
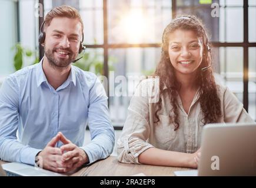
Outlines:
[[[0, 158], [66, 173], [109, 156], [114, 129], [101, 82], [71, 63], [82, 51], [83, 23], [71, 6], [45, 16], [44, 58], [8, 76], [0, 91]], [[83, 146], [89, 125], [91, 142]], [[17, 136], [16, 136], [17, 135]]]

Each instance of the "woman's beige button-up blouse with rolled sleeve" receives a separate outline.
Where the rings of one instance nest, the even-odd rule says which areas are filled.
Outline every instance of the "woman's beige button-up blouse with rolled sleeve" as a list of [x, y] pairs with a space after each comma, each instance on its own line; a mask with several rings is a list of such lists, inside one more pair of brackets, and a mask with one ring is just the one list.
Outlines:
[[[118, 160], [123, 163], [139, 163], [138, 156], [149, 147], [163, 150], [193, 153], [200, 147], [203, 113], [196, 93], [188, 114], [178, 97], [179, 128], [169, 121], [169, 110], [172, 108], [169, 97], [159, 96], [159, 85], [155, 79], [145, 79], [132, 96], [128, 116], [118, 139]], [[243, 108], [242, 103], [226, 87], [218, 85], [221, 100], [222, 117], [218, 122], [254, 122]], [[154, 114], [159, 97], [162, 109], [158, 112], [160, 121], [154, 125]]]

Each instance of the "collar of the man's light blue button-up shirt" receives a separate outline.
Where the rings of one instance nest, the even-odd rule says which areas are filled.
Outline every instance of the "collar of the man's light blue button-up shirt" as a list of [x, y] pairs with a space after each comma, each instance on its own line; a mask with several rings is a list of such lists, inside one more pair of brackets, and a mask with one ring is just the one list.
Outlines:
[[[44, 58], [36, 65], [36, 85], [39, 87], [43, 82], [48, 82], [42, 69], [42, 62]], [[75, 68], [71, 65], [71, 72], [69, 73], [68, 79], [64, 83], [73, 82], [74, 86], [76, 85], [76, 76], [75, 76]]]

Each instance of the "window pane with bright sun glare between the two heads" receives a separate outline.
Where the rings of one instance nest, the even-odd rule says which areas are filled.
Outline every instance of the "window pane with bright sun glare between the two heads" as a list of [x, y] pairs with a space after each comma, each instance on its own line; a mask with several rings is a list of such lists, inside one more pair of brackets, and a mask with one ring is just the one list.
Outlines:
[[159, 43], [171, 21], [169, 0], [108, 1], [109, 43]]

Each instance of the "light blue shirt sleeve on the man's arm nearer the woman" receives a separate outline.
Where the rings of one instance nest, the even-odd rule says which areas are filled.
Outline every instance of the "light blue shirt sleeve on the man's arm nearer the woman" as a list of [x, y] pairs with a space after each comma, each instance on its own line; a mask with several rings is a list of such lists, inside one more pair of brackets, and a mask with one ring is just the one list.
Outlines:
[[99, 79], [95, 80], [89, 92], [88, 125], [91, 142], [81, 148], [87, 153], [90, 164], [108, 157], [115, 143], [114, 128], [108, 113], [108, 97]]

